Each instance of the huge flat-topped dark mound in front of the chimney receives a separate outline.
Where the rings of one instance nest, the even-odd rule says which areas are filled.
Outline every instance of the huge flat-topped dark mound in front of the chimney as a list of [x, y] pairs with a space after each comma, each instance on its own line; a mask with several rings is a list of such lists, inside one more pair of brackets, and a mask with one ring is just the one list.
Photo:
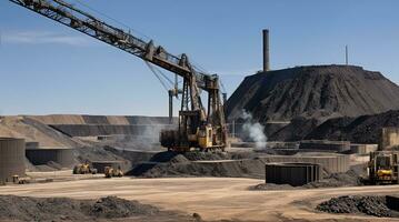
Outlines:
[[229, 119], [242, 110], [255, 120], [358, 117], [399, 109], [399, 87], [379, 72], [352, 65], [310, 65], [247, 77], [227, 103]]

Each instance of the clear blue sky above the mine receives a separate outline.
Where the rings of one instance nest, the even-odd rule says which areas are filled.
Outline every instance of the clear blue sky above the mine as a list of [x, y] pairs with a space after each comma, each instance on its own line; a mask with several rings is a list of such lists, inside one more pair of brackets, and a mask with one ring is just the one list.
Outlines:
[[[399, 1], [84, 2], [174, 54], [188, 53], [220, 74], [229, 94], [261, 69], [263, 28], [272, 69], [343, 63], [348, 44], [351, 64], [399, 82]], [[133, 56], [7, 0], [0, 1], [0, 114], [168, 114], [166, 90]]]

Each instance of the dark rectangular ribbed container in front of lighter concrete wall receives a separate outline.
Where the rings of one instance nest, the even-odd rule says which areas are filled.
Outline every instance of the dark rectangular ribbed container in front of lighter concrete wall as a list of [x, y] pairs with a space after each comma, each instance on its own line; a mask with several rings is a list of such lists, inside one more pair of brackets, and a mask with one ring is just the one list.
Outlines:
[[265, 170], [266, 183], [298, 186], [321, 178], [320, 165], [313, 163], [269, 163]]

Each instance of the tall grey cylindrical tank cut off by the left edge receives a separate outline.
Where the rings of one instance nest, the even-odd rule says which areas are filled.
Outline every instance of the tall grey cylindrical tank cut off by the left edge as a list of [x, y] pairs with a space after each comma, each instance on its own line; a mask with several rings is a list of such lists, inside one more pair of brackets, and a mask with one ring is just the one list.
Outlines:
[[0, 182], [24, 176], [24, 139], [0, 138]]

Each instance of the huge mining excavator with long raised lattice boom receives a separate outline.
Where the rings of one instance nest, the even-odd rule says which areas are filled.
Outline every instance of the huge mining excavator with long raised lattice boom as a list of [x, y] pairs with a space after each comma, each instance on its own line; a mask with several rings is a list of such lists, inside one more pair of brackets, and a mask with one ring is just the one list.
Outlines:
[[[227, 128], [217, 74], [199, 70], [184, 53], [173, 56], [161, 46], [156, 46], [152, 40], [146, 42], [131, 34], [130, 30], [108, 24], [67, 1], [9, 1], [181, 77], [183, 83], [178, 129], [161, 131], [161, 145], [179, 152], [190, 149], [225, 150]], [[207, 109], [201, 102], [200, 90], [208, 92]]]

